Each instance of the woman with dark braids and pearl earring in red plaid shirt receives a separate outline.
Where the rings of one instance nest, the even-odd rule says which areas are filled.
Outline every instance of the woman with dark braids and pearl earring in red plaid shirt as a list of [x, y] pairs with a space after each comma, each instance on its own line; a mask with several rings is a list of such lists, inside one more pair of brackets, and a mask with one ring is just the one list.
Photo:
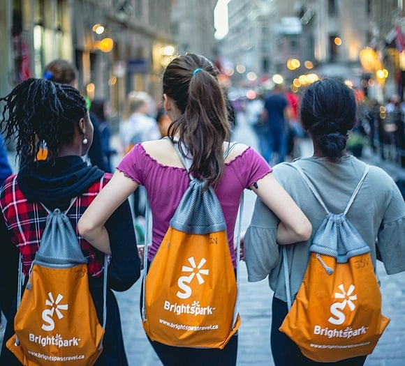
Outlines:
[[[76, 233], [78, 220], [98, 192], [110, 181], [97, 167], [82, 160], [91, 146], [93, 125], [84, 98], [77, 89], [47, 79], [27, 79], [0, 98], [1, 132], [6, 140], [16, 140], [20, 171], [8, 177], [0, 190], [0, 237], [3, 264], [0, 282], [4, 288], [1, 301], [6, 307], [7, 327], [3, 338], [0, 365], [20, 365], [6, 348], [13, 335], [16, 312], [18, 256], [22, 254], [22, 270], [29, 268], [40, 244], [47, 212], [69, 211]], [[37, 160], [38, 151], [47, 146], [46, 160]], [[72, 215], [72, 213], [74, 213]], [[89, 270], [89, 289], [98, 319], [103, 321], [104, 253], [111, 254], [108, 268], [107, 323], [103, 353], [96, 365], [128, 365], [122, 340], [119, 309], [111, 289], [124, 291], [140, 276], [140, 260], [136, 250], [131, 210], [124, 201], [106, 225], [110, 245], [90, 245], [78, 234], [78, 241]]]

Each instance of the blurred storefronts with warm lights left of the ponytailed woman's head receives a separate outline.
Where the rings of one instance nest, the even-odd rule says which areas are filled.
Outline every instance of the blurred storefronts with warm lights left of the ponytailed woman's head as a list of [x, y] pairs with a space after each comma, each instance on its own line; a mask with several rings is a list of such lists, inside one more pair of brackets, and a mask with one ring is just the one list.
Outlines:
[[110, 100], [117, 116], [131, 90], [160, 99], [161, 71], [175, 53], [170, 6], [170, 0], [0, 1], [1, 95], [42, 77], [47, 63], [61, 58], [78, 67], [80, 91]]

